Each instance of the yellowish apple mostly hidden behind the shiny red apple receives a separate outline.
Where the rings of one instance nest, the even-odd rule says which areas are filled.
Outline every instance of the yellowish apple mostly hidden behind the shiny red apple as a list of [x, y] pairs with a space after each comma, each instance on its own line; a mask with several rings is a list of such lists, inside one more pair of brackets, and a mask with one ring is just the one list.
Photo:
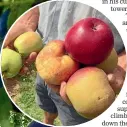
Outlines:
[[98, 68], [104, 70], [107, 74], [113, 73], [115, 68], [117, 67], [118, 63], [118, 55], [115, 49], [111, 51], [110, 55], [108, 58], [106, 58], [103, 62], [97, 65]]

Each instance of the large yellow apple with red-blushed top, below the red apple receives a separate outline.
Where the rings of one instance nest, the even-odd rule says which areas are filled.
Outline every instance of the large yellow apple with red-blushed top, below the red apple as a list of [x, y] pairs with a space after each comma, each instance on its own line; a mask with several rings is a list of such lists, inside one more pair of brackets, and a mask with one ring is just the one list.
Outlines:
[[88, 119], [99, 116], [115, 100], [106, 73], [96, 67], [76, 71], [66, 84], [66, 93], [75, 110]]

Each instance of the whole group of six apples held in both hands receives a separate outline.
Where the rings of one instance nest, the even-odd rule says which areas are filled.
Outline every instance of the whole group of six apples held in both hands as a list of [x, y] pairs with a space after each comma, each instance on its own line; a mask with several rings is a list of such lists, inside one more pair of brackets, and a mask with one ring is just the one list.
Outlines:
[[39, 52], [36, 69], [47, 84], [66, 84], [66, 93], [75, 110], [93, 119], [115, 100], [107, 74], [117, 67], [110, 27], [100, 19], [85, 18], [74, 24], [65, 40], [52, 40], [42, 47], [35, 32], [20, 35], [14, 42], [16, 51], [3, 49], [2, 72], [7, 78], [16, 76], [22, 67], [22, 55]]

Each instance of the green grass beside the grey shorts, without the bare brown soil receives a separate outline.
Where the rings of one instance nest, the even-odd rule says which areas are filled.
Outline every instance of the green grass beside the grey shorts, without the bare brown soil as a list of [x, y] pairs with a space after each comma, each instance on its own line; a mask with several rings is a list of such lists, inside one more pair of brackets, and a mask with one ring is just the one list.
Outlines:
[[[35, 78], [36, 71], [28, 76], [18, 76], [20, 82], [19, 94], [16, 95], [16, 104], [32, 118], [43, 121], [44, 111], [35, 102]], [[60, 120], [57, 118], [54, 122], [55, 125], [61, 125]]]

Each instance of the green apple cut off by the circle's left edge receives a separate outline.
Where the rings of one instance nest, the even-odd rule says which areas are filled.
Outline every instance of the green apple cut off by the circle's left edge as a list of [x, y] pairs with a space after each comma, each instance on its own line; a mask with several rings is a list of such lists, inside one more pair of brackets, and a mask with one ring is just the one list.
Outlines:
[[1, 70], [5, 78], [15, 77], [22, 67], [22, 58], [19, 53], [11, 49], [2, 50]]

